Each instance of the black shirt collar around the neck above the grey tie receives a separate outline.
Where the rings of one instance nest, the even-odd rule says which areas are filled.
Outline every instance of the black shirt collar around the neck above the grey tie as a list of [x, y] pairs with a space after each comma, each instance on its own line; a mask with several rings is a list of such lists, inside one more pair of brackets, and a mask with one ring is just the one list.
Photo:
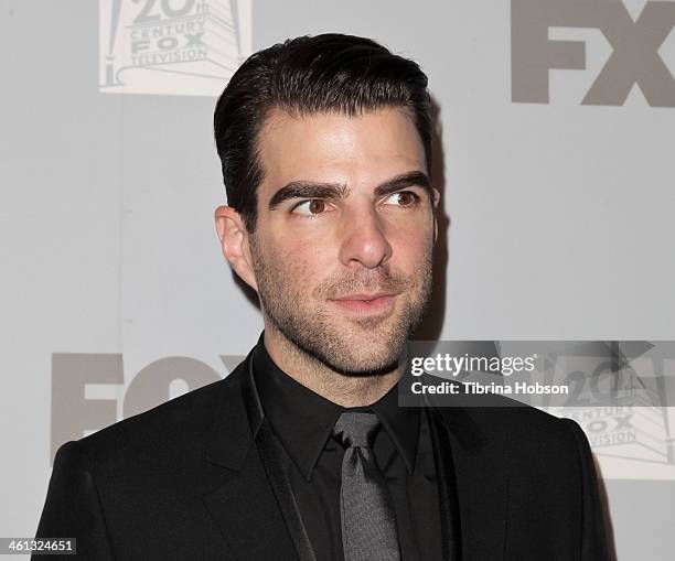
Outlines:
[[281, 370], [265, 348], [264, 335], [265, 331], [253, 355], [260, 403], [281, 444], [308, 481], [338, 418], [347, 410], [371, 410], [377, 414], [408, 473], [413, 473], [419, 440], [419, 409], [398, 407], [397, 386], [369, 407], [343, 408]]

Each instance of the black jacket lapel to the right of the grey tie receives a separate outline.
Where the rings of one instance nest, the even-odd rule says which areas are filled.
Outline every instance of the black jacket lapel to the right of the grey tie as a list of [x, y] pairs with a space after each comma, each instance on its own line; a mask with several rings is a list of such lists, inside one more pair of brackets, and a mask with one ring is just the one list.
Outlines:
[[[467, 409], [432, 408], [435, 416], [444, 429], [433, 436], [435, 446], [446, 453], [450, 449], [450, 457], [446, 456], [444, 465], [440, 467], [441, 474], [447, 474], [447, 477], [441, 475], [447, 487], [439, 487], [446, 494], [441, 497], [441, 507], [444, 501], [449, 509], [443, 513], [443, 520], [448, 527], [453, 522], [448, 517], [459, 517], [461, 526], [459, 539], [451, 537], [449, 543], [452, 547], [461, 542], [462, 561], [502, 561], [508, 490], [502, 471], [505, 465], [502, 447], [485, 438], [473, 413]], [[453, 505], [459, 511], [452, 510]]]

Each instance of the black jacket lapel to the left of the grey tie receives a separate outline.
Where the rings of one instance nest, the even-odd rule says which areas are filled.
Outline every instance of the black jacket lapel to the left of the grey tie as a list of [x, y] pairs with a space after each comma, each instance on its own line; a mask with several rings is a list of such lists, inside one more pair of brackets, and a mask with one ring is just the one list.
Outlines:
[[275, 492], [255, 445], [259, 420], [249, 421], [246, 391], [251, 353], [228, 376], [216, 404], [206, 460], [216, 470], [216, 488], [203, 496], [229, 550], [240, 561], [297, 561]]

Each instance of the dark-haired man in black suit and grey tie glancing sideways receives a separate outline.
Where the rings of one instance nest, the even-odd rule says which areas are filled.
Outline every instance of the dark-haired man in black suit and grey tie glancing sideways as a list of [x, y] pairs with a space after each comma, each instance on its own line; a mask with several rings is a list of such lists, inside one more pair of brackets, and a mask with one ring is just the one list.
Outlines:
[[438, 236], [417, 64], [346, 35], [275, 45], [215, 137], [217, 234], [265, 330], [223, 381], [64, 444], [38, 535], [92, 560], [607, 559], [576, 423], [397, 404]]

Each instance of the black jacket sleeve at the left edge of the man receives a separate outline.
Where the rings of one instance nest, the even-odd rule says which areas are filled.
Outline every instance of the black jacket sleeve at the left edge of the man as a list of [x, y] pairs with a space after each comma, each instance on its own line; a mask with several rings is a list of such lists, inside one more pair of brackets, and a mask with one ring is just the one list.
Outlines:
[[[76, 539], [76, 555], [50, 559], [114, 560], [94, 476], [77, 442], [66, 442], [56, 452], [35, 537]], [[42, 555], [31, 559], [38, 561]]]

